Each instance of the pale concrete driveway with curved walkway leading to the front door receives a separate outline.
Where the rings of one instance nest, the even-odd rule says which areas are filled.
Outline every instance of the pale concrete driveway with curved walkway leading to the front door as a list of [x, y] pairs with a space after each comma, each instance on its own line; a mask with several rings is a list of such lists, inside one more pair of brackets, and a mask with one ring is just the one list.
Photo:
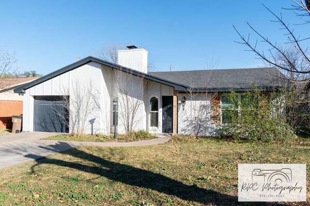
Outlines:
[[158, 136], [157, 139], [142, 140], [129, 143], [95, 143], [40, 140], [44, 137], [54, 136], [52, 132], [23, 132], [18, 134], [0, 136], [0, 168], [9, 167], [29, 160], [46, 157], [62, 152], [76, 146], [144, 146], [168, 142], [170, 136]]

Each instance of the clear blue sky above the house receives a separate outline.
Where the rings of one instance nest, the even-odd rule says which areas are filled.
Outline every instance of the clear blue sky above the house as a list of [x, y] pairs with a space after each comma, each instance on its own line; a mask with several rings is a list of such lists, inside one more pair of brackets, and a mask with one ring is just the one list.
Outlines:
[[[263, 7], [282, 13], [301, 37], [292, 0], [1, 0], [0, 48], [16, 53], [19, 71], [48, 74], [108, 44], [148, 50], [155, 71], [252, 68], [261, 60], [235, 43], [247, 22], [278, 44], [280, 25]], [[304, 19], [306, 20], [306, 19]], [[250, 33], [250, 40], [257, 37]], [[259, 42], [260, 50], [268, 47]]]

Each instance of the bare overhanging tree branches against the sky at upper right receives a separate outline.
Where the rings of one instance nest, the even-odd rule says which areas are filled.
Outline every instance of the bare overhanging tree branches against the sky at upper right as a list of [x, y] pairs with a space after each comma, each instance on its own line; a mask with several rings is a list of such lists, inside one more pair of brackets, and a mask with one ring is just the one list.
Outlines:
[[[294, 2], [293, 10], [297, 11], [297, 16], [305, 16], [310, 17], [310, 11], [309, 11], [309, 1], [308, 0], [300, 0], [300, 2], [297, 2], [296, 0], [292, 0]], [[263, 5], [264, 6], [264, 5]], [[308, 48], [304, 48], [303, 42], [310, 40], [309, 37], [307, 38], [300, 38], [298, 34], [294, 33], [294, 28], [291, 28], [291, 26], [284, 22], [282, 19], [282, 16], [278, 16], [275, 13], [273, 13], [271, 10], [269, 10], [266, 6], [264, 6], [274, 17], [274, 22], [279, 23], [281, 26], [281, 30], [285, 31], [285, 35], [287, 36], [287, 44], [290, 45], [290, 47], [283, 47], [281, 45], [277, 45], [276, 42], [272, 42], [268, 37], [263, 36], [262, 33], [258, 32], [256, 29], [254, 29], [249, 23], [249, 28], [258, 35], [258, 37], [261, 39], [261, 41], [265, 44], [267, 44], [270, 49], [265, 53], [264, 51], [260, 51], [258, 48], [258, 40], [256, 40], [255, 43], [251, 43], [249, 39], [249, 35], [245, 37], [242, 35], [238, 30], [233, 26], [235, 31], [239, 34], [241, 38], [241, 42], [237, 42], [240, 44], [246, 45], [249, 49], [249, 51], [253, 51], [259, 58], [263, 59], [264, 62], [277, 67], [281, 70], [285, 70], [289, 73], [296, 73], [296, 74], [309, 74], [310, 73], [310, 54], [308, 51]], [[299, 12], [303, 12], [302, 14], [298, 14]], [[309, 23], [309, 20], [306, 20], [304, 23]], [[297, 55], [297, 59], [292, 59], [292, 56], [289, 54], [292, 54], [291, 51], [294, 49], [294, 54]], [[279, 61], [280, 60], [280, 61]], [[295, 61], [298, 61], [299, 63], [296, 63]], [[309, 75], [302, 76], [302, 78], [299, 79], [292, 79], [295, 81], [308, 81], [310, 79]]]

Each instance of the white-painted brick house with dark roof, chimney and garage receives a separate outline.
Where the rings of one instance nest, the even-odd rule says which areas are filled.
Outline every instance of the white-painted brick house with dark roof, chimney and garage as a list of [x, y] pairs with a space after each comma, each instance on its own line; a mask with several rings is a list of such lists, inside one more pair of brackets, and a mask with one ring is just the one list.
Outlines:
[[84, 133], [108, 134], [117, 100], [119, 133], [189, 134], [191, 122], [200, 135], [212, 135], [221, 121], [212, 106], [221, 103], [219, 94], [245, 92], [253, 83], [263, 89], [280, 86], [274, 68], [148, 73], [147, 53], [120, 50], [119, 64], [87, 57], [17, 88], [14, 92], [24, 95], [23, 130], [72, 132], [75, 125]]

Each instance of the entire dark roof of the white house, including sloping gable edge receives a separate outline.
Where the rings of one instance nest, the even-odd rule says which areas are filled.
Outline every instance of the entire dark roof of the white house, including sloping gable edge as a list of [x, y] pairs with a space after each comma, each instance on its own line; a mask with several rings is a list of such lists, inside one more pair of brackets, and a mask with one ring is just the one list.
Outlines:
[[14, 90], [14, 92], [25, 93], [27, 89], [35, 85], [90, 62], [106, 65], [112, 69], [121, 70], [143, 79], [171, 86], [174, 90], [179, 92], [186, 92], [189, 88], [193, 88], [194, 91], [197, 92], [204, 92], [206, 90], [208, 92], [229, 92], [231, 89], [236, 92], [245, 92], [250, 90], [253, 84], [259, 88], [273, 89], [281, 86], [279, 85], [279, 77], [283, 79], [285, 78], [284, 75], [279, 73], [279, 70], [276, 68], [149, 72], [148, 74], [144, 74], [139, 71], [90, 56], [18, 87]]

